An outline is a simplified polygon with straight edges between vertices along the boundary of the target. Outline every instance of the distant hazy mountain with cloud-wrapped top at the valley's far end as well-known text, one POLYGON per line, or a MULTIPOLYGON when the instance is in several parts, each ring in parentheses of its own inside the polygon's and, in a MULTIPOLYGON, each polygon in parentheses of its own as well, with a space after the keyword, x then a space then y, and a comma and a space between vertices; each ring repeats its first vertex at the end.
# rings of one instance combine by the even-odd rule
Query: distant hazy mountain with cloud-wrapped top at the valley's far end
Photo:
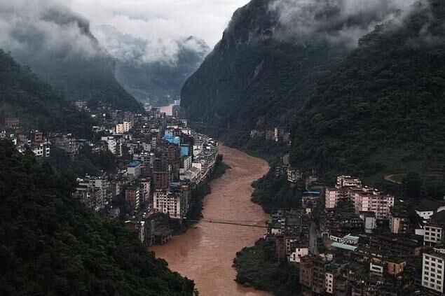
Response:
POLYGON ((156 52, 153 41, 123 34, 109 25, 99 27, 101 44, 116 58, 116 78, 139 101, 165 106, 179 97, 181 87, 210 51, 205 41, 190 36, 172 41, 156 52))

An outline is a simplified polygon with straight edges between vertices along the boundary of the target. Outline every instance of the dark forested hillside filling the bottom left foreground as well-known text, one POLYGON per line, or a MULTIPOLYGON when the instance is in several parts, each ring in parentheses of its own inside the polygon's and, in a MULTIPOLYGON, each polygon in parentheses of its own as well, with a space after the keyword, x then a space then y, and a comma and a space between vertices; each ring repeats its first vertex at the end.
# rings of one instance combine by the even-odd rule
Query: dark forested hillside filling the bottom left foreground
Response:
POLYGON ((0 141, 1 295, 193 295, 192 281, 72 199, 72 186, 0 141))

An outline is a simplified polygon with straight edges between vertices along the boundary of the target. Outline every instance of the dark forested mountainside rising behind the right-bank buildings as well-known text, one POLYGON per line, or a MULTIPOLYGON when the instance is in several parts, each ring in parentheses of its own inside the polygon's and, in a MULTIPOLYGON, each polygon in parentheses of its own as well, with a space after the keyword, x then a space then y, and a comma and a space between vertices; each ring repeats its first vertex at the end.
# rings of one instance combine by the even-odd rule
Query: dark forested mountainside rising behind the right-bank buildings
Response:
POLYGON ((296 115, 294 165, 374 182, 416 171, 430 190, 443 185, 444 21, 444 1, 423 1, 364 36, 296 115))

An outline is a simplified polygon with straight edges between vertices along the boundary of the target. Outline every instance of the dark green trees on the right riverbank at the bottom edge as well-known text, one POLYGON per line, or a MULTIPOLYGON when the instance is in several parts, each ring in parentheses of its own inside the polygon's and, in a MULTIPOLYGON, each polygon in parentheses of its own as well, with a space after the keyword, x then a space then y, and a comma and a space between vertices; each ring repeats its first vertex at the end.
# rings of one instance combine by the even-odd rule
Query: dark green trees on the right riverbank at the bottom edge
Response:
POLYGON ((275 261, 272 241, 260 239, 255 246, 243 248, 233 260, 238 272, 236 281, 245 286, 270 291, 274 295, 298 295, 299 269, 295 265, 275 261))

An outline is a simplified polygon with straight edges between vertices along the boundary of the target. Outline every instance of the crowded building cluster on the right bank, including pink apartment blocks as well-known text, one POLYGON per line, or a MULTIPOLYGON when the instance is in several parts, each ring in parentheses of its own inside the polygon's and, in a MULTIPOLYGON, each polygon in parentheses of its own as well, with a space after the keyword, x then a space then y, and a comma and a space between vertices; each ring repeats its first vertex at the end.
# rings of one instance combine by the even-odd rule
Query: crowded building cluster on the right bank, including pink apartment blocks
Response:
MULTIPOLYGON (((320 186, 287 161, 301 208, 271 215, 275 260, 299 266, 301 295, 445 295, 445 200, 403 200, 338 176, 320 186)), ((314 174, 313 174, 314 175, 314 174)))

